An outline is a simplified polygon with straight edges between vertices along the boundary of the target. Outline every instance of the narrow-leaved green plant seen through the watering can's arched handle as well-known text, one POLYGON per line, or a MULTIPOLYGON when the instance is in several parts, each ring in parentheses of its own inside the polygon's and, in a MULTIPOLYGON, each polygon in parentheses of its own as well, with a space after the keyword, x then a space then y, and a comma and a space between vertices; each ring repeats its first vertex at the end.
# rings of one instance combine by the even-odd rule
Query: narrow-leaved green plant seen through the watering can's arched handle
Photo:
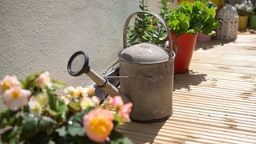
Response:
MULTIPOLYGON (((163 18, 169 18, 170 9, 168 3, 170 0, 160 1, 160 14, 163 18)), ((140 0, 139 8, 142 11, 148 11, 147 0, 140 0)), ((128 30, 128 43, 130 45, 138 44, 141 42, 150 42, 158 46, 164 45, 166 38, 166 30, 162 23, 150 14, 138 14, 135 17, 134 24, 128 30)))

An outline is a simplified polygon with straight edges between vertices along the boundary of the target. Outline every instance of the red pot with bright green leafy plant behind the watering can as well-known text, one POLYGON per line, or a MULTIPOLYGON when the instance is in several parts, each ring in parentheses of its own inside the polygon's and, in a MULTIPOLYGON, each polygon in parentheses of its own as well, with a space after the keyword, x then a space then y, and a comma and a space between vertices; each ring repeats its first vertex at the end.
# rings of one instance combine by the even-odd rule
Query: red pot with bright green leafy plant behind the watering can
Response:
POLYGON ((212 2, 182 2, 178 10, 172 10, 166 21, 178 43, 178 55, 175 61, 175 73, 189 69, 198 32, 213 34, 220 22, 215 18, 216 5, 212 2))

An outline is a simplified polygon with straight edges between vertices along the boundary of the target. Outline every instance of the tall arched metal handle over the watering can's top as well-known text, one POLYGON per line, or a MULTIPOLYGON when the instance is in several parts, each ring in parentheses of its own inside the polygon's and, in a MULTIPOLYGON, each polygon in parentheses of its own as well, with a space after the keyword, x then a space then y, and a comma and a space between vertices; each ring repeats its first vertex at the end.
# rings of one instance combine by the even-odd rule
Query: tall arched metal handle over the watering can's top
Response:
POLYGON ((149 11, 138 11, 138 12, 135 12, 133 14, 130 14, 130 16, 126 19, 125 26, 123 27, 123 48, 125 49, 127 47, 127 30, 128 30, 128 25, 129 25, 130 19, 133 18, 134 15, 137 15, 137 14, 151 14, 154 17, 158 18, 162 22, 162 25, 166 29, 166 33, 167 33, 167 37, 168 37, 168 41, 169 41, 169 48, 170 48, 170 50, 169 50, 169 59, 173 58, 173 54, 172 54, 172 50, 173 50, 172 43, 173 42, 172 42, 172 39, 171 39, 171 36, 170 36, 170 29, 167 26, 166 21, 160 15, 154 14, 154 13, 149 12, 149 11))

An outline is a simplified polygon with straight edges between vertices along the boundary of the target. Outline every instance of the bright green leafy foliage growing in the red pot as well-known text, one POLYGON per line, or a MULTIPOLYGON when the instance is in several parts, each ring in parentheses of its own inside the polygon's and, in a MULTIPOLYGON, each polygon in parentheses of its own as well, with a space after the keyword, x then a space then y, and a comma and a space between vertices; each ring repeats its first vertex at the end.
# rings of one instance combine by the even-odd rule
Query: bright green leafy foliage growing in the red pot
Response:
MULTIPOLYGON (((216 19, 216 8, 212 2, 182 2, 178 10, 170 13, 168 26, 176 37, 179 34, 214 34, 221 21, 216 19)), ((168 19, 167 19, 168 20, 168 19)))

